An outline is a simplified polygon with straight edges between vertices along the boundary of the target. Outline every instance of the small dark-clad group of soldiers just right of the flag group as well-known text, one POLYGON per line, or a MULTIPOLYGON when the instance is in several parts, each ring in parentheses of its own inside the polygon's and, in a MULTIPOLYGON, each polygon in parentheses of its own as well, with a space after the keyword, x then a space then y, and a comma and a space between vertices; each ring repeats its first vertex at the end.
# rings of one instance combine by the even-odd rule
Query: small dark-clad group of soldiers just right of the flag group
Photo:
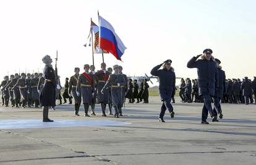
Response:
POLYGON ((135 99, 137 99, 136 103, 140 103, 143 100, 143 103, 148 103, 148 79, 142 79, 140 82, 140 89, 138 85, 138 80, 134 80, 132 82, 132 78, 128 80, 128 91, 126 98, 129 99, 129 103, 135 103, 135 99))

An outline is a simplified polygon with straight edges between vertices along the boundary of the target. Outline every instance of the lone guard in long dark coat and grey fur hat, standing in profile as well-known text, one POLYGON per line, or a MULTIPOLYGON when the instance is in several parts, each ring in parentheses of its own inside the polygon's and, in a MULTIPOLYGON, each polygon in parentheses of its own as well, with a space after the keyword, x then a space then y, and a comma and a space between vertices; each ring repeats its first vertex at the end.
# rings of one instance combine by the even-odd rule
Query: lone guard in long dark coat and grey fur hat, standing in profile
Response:
POLYGON ((53 59, 46 55, 42 59, 45 63, 45 69, 43 69, 43 77, 45 78, 45 84, 40 93, 40 104, 43 107, 43 122, 53 122, 48 118, 49 106, 56 106, 56 76, 51 63, 53 59))

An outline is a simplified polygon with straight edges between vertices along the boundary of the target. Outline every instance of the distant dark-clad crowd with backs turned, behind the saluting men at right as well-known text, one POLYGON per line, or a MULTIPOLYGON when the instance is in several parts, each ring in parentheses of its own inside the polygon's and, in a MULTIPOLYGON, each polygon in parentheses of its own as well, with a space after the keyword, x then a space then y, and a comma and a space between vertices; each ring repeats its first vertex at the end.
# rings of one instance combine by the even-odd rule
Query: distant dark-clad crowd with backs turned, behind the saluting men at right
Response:
MULTIPOLYGON (((179 96, 182 103, 203 103, 202 96, 198 96, 197 79, 191 82, 190 78, 186 78, 186 80, 181 78, 179 96)), ((256 77, 254 77, 254 80, 245 77, 242 81, 239 78, 227 79, 221 103, 256 104, 256 77)))

